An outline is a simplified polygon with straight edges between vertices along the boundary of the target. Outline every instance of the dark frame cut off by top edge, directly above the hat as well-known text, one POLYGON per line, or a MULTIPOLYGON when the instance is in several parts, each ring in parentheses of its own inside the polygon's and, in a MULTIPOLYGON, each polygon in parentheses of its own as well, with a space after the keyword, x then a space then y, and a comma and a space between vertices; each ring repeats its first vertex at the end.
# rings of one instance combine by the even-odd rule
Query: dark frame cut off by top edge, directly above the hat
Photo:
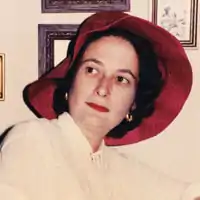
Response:
POLYGON ((42 0, 43 13, 130 11, 130 0, 42 0))

